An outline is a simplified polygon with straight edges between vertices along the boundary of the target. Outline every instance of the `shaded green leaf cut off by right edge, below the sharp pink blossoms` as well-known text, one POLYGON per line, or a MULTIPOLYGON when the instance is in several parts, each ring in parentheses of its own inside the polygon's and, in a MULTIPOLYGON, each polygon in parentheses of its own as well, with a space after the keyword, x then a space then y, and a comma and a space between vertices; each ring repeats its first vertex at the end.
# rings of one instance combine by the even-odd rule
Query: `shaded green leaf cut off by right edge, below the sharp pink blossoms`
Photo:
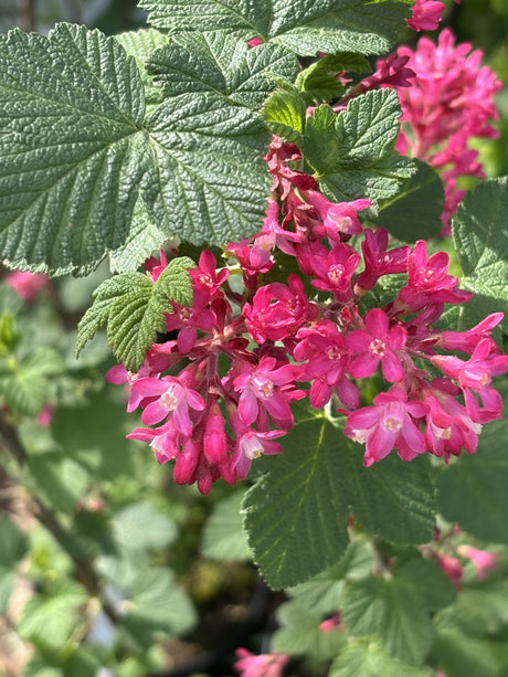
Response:
POLYGON ((507 438, 508 421, 489 423, 474 456, 463 454, 437 479, 443 517, 486 541, 508 543, 506 487, 508 458, 499 442, 507 438))

